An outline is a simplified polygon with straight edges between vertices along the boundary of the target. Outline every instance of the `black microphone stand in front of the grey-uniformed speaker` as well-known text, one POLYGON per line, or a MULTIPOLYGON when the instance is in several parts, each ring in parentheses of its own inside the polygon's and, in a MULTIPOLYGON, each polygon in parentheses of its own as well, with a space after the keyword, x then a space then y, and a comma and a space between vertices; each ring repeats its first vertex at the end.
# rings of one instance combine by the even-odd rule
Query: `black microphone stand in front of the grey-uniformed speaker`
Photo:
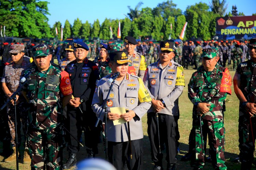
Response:
MULTIPOLYGON (((107 135, 107 101, 109 101, 108 97, 110 95, 110 92, 113 88, 113 85, 114 85, 114 82, 115 80, 111 83, 110 87, 109 87, 109 92, 108 92, 108 95, 106 96, 106 98, 104 99, 103 101, 103 104, 101 105, 101 109, 105 109, 104 113, 105 113, 105 145, 106 145, 106 152, 105 152, 105 157, 106 157, 106 161, 108 161, 108 135, 107 135)), ((99 117, 97 118, 97 121, 95 123, 95 127, 98 126, 99 124, 99 121, 100 121, 100 117, 101 117, 101 114, 102 114, 102 111, 100 112, 99 114, 99 117)))

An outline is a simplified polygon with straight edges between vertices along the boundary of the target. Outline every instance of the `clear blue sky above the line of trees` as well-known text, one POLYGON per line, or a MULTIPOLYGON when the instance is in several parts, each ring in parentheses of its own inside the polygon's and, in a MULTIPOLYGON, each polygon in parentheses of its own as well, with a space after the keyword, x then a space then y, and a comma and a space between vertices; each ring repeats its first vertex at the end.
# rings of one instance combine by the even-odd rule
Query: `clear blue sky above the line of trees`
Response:
MULTIPOLYGON (((78 17, 83 23, 88 20, 90 24, 98 18, 100 24, 105 18, 109 19, 123 19, 124 14, 129 13, 128 7, 132 9, 140 2, 140 0, 46 0, 49 2, 48 10, 51 15, 47 15, 49 21, 48 24, 52 27, 56 21, 60 21, 64 26, 66 19, 73 25, 74 20, 78 17)), ((158 3, 166 2, 167 0, 141 0, 143 2, 141 8, 151 7, 152 9, 158 5, 158 3)), ((206 0, 207 4, 211 0, 206 0)), ((182 12, 184 12, 188 5, 195 5, 200 0, 173 0, 182 12)), ((256 13, 255 6, 256 0, 227 0, 228 9, 227 13, 232 10, 232 5, 237 5, 237 11, 243 12, 245 15, 250 16, 256 13)))

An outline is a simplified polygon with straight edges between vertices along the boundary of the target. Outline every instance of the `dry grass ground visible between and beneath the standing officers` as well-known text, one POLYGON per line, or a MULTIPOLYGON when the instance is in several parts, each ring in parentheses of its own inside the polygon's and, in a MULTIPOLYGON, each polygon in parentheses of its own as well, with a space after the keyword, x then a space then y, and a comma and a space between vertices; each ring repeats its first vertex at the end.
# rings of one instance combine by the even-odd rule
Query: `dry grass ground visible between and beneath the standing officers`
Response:
MULTIPOLYGON (((229 70, 232 70, 231 67, 229 67, 229 70)), ((192 127, 192 108, 193 105, 189 101, 187 97, 187 84, 188 81, 192 75, 192 73, 195 70, 193 70, 191 67, 189 69, 185 69, 185 84, 186 87, 183 90, 183 93, 181 97, 179 98, 179 107, 180 107, 180 119, 179 119, 179 131, 180 131, 180 154, 177 155, 177 169, 192 169, 190 168, 189 162, 181 162, 180 159, 183 155, 185 155, 188 151, 188 136, 190 133, 190 129, 192 127)), ((231 76, 233 77, 234 71, 230 71, 231 76)), ((232 160, 236 158, 239 154, 239 148, 238 148, 238 109, 239 109, 239 100, 236 97, 236 94, 233 91, 232 86, 232 95, 228 95, 226 98, 226 112, 225 112, 225 128, 226 128, 226 144, 225 144, 225 157, 226 157, 226 165, 228 169, 240 169, 240 164, 233 163, 232 160)), ((143 117, 143 130, 144 130, 144 139, 143 139, 143 145, 144 145, 144 169, 145 170, 151 170, 153 168, 153 163, 151 161, 151 155, 150 155, 150 142, 148 140, 147 135, 147 117, 143 117)), ((0 147, 0 152, 2 152, 2 148, 0 147)), ((103 153, 103 143, 99 143, 99 154, 97 157, 105 158, 105 155, 103 153)), ((163 151, 165 153, 165 151, 163 151)), ((81 148, 79 154, 78 154, 78 160, 85 159, 87 157, 85 148, 81 148)), ((63 160, 66 161, 68 158, 68 153, 66 151, 66 148, 64 149, 63 153, 63 160)), ((8 169, 16 169, 16 163, 4 163, 2 160, 4 158, 0 156, 0 169, 1 170, 8 170, 8 169)), ((165 155, 163 160, 165 160, 165 155)), ((163 163, 163 167, 166 169, 166 163, 163 163)), ((205 169, 213 169, 211 163, 206 163, 205 169)), ((253 165, 253 169, 256 167, 253 165)), ((27 170, 30 169, 30 166, 28 164, 21 164, 19 163, 19 169, 27 170)), ((75 169, 75 168, 73 168, 75 169)))

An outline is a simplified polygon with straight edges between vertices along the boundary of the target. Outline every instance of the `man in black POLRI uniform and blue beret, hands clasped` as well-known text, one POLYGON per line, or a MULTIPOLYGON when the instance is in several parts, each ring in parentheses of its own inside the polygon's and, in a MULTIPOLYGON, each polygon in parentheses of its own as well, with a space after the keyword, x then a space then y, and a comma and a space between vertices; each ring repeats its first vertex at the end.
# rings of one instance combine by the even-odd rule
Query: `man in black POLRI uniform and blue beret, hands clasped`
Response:
MULTIPOLYGON (((91 110, 91 101, 96 80, 99 79, 99 69, 93 61, 87 59, 89 48, 84 42, 75 42, 73 45, 76 60, 70 62, 65 68, 70 76, 74 95, 67 105, 67 126, 76 139, 81 137, 82 129, 84 129, 88 157, 95 157, 98 154, 101 129, 94 127, 97 117, 91 110)), ((76 153, 80 150, 79 143, 71 136, 68 139, 67 150, 69 158, 63 165, 63 169, 70 169, 76 165, 76 153)))

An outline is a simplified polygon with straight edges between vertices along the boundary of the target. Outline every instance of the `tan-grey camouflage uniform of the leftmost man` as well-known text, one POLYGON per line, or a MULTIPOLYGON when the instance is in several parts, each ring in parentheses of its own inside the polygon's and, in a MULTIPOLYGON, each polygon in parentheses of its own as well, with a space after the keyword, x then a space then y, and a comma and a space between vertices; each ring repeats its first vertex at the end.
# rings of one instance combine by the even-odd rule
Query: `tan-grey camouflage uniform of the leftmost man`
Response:
MULTIPOLYGON (((24 47, 23 47, 24 48, 24 47)), ((3 70, 2 83, 7 83, 7 87, 11 93, 14 93, 20 86, 20 79, 26 69, 30 67, 30 61, 28 58, 23 57, 23 62, 21 65, 16 66, 13 62, 6 65, 3 70)), ((19 103, 16 105, 16 115, 17 115, 17 135, 18 135, 18 146, 20 146, 21 134, 20 134, 20 120, 22 121, 23 133, 27 133, 27 112, 26 112, 26 100, 20 95, 18 99, 19 103)), ((15 147, 15 112, 14 106, 11 103, 7 104, 7 114, 8 114, 8 124, 11 133, 11 145, 15 147)))

